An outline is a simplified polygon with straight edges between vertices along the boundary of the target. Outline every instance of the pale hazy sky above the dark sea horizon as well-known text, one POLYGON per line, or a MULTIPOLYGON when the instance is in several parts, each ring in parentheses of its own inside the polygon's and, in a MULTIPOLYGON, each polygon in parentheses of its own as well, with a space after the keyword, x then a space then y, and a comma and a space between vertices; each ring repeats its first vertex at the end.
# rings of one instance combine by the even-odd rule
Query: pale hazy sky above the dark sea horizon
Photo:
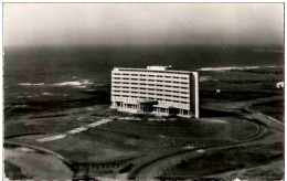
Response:
POLYGON ((283 3, 4 3, 4 46, 283 44, 283 3))

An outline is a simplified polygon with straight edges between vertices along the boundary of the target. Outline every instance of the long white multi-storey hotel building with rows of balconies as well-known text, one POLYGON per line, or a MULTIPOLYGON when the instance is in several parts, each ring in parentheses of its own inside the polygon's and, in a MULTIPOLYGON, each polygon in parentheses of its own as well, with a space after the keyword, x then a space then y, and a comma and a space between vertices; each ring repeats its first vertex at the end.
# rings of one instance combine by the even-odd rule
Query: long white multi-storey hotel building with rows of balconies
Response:
POLYGON ((199 118, 199 73, 170 66, 115 67, 111 108, 132 114, 199 118))

